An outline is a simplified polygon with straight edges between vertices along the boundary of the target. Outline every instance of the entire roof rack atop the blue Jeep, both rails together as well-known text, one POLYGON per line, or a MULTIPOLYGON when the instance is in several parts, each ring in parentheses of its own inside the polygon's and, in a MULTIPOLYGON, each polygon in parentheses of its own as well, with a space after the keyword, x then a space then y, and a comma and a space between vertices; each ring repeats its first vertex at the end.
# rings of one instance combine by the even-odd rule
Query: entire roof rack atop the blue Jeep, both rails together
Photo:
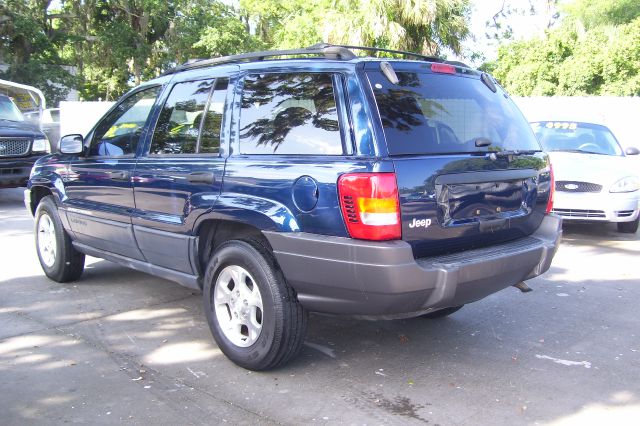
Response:
POLYGON ((190 59, 182 65, 178 65, 166 71, 162 75, 174 74, 176 72, 188 69, 208 67, 211 65, 232 64, 236 62, 252 62, 263 61, 266 58, 274 58, 278 56, 320 56, 326 59, 343 59, 351 60, 357 56, 351 50, 362 50, 375 53, 391 53, 394 55, 409 56, 423 61, 443 62, 443 59, 434 56, 421 55, 419 53, 406 52, 403 50, 381 49, 377 47, 366 46, 347 46, 339 44, 318 43, 303 49, 287 49, 287 50, 265 50, 262 52, 242 53, 240 55, 221 56, 212 59, 190 59))

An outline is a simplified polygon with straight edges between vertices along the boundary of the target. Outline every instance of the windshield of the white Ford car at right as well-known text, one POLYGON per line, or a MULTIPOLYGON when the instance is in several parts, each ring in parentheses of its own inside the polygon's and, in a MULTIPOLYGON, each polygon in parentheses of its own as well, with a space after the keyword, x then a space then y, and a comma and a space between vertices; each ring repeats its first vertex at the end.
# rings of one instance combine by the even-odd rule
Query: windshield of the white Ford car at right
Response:
POLYGON ((622 148, 605 126, 566 121, 531 123, 545 151, 622 155, 622 148))

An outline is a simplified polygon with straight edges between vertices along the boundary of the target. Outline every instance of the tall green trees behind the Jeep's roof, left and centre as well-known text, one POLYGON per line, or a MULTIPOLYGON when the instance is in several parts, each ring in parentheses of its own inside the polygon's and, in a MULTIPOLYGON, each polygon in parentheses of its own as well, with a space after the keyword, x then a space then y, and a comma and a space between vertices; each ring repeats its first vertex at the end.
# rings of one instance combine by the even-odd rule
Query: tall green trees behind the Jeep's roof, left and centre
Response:
POLYGON ((459 53, 470 0, 5 0, 0 78, 113 100, 191 58, 318 42, 459 53), (63 67, 61 67, 63 66, 63 67))

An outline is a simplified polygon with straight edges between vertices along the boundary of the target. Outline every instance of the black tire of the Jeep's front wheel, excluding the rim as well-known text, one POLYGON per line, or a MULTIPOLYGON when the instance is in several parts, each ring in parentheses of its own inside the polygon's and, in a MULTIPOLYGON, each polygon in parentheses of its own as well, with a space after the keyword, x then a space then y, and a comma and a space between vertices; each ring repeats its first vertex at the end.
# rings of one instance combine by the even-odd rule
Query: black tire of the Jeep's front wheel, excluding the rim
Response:
POLYGON ((80 278, 84 270, 84 254, 77 251, 71 244, 71 238, 62 226, 58 209, 51 195, 44 197, 38 204, 35 214, 35 234, 38 260, 47 277, 59 283, 75 281, 80 278), (41 253, 40 240, 43 237, 40 225, 45 220, 50 220, 55 234, 56 247, 53 262, 46 262, 44 253, 41 253))

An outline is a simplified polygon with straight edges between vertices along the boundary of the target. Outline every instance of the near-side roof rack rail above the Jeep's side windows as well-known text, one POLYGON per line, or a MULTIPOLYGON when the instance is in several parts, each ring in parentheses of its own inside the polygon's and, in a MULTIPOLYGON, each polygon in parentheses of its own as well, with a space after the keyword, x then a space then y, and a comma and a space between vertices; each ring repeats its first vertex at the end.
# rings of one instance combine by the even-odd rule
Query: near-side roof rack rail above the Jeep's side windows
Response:
POLYGON ((342 46, 334 46, 331 44, 314 44, 313 46, 305 47, 303 49, 287 49, 287 50, 265 50, 262 52, 242 53, 240 55, 221 56, 219 58, 190 60, 182 65, 178 65, 166 71, 162 75, 173 74, 179 71, 184 71, 194 68, 208 67, 211 65, 231 64, 234 62, 252 62, 263 61, 266 58, 273 58, 278 56, 322 56, 327 59, 344 59, 350 60, 356 58, 349 49, 345 49, 342 46))

